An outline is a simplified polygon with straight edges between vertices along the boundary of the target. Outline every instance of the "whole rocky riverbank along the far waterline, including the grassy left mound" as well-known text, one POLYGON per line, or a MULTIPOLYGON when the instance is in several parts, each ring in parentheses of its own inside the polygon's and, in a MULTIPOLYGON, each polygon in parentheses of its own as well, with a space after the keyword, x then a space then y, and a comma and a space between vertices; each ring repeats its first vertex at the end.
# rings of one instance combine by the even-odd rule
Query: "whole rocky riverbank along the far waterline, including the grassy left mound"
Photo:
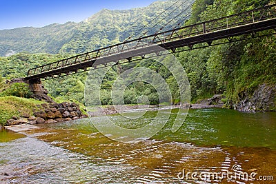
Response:
MULTIPOLYGON (((269 96, 273 96, 269 93, 269 96)), ((206 108, 224 108, 222 95, 215 95, 210 99, 204 99, 199 103, 186 105, 190 109, 206 109, 206 108)), ((84 110, 80 110, 76 103, 43 103, 34 99, 23 99, 15 96, 2 97, 0 101, 1 124, 20 125, 20 124, 40 124, 40 123, 58 123, 62 121, 71 121, 76 119, 87 118, 88 115, 83 114, 84 110), (8 107, 8 108, 7 108, 8 107), (4 117, 2 117, 5 115, 4 117), (6 122, 4 122, 6 119, 6 122)), ((126 112, 128 110, 159 110, 159 108, 181 108, 180 105, 102 105, 95 108, 88 108, 90 116, 102 116, 126 112)), ((255 108, 248 111, 248 108, 236 109, 242 112, 255 112, 255 108)))

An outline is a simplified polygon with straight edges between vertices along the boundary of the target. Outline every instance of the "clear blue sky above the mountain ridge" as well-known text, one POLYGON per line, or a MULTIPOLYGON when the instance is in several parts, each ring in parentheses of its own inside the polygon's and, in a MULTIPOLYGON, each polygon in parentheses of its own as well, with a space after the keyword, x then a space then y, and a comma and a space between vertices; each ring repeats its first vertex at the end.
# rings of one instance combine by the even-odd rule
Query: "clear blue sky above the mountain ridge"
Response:
POLYGON ((0 30, 80 22, 102 10, 127 10, 157 0, 0 0, 0 30))

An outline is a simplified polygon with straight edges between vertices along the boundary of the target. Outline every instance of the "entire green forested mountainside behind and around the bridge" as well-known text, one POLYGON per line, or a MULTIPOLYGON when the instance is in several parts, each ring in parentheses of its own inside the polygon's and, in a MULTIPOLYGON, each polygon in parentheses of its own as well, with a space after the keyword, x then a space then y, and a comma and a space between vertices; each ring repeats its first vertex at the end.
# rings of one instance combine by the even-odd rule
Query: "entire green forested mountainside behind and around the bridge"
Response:
MULTIPOLYGON (((132 10, 102 10, 81 23, 70 22, 63 25, 52 24, 44 28, 0 31, 1 53, 7 54, 10 50, 8 54, 13 54, 10 57, 0 57, 0 96, 1 89, 8 88, 5 84, 6 79, 26 76, 29 68, 70 57, 75 52, 84 52, 124 41, 129 35, 137 32, 139 34, 135 34, 135 37, 139 37, 146 30, 149 30, 148 34, 154 32, 157 27, 160 28, 165 24, 161 22, 161 19, 155 19, 155 16, 161 14, 161 17, 166 17, 166 14, 162 14, 163 10, 169 8, 174 2, 158 1, 146 8, 132 10), (150 23, 152 19, 155 21, 150 23), (153 28, 139 30, 147 23, 150 23, 147 28, 153 28), (59 52, 59 54, 30 54, 26 52, 14 54, 12 52, 23 50, 59 52)), ((186 24, 217 19, 226 14, 262 8, 269 4, 275 4, 275 0, 196 0, 193 3, 191 17, 186 24)), ((185 8, 179 8, 179 10, 185 10, 185 8)), ((170 17, 174 16, 170 14, 170 17)), ((168 17, 166 18, 168 21, 168 17)), ((183 22, 185 19, 183 17, 175 19, 177 22, 181 22, 180 20, 183 22)), ((175 25, 175 23, 170 23, 167 28, 175 25)), ((274 30, 259 32, 260 36, 262 34, 270 34, 270 36, 257 37, 256 34, 254 39, 176 53, 175 57, 183 65, 190 81, 192 102, 200 102, 201 99, 211 98, 214 94, 223 94, 222 96, 225 98, 221 101, 227 108, 245 111, 276 111, 276 37, 274 30)), ((240 38, 242 39, 242 37, 240 38)), ((224 41, 217 43, 220 42, 224 41)), ((178 51, 180 50, 181 48, 178 51)), ((112 84, 117 79, 116 75, 137 67, 149 68, 158 72, 172 87, 172 97, 175 103, 179 102, 178 85, 175 83, 175 78, 162 66, 150 60, 126 63, 111 68, 111 71, 106 74, 106 79, 101 83, 103 104, 112 103, 111 90, 112 84)), ((63 76, 43 81, 43 84, 57 102, 79 101, 84 103, 83 92, 87 75, 87 72, 83 72, 63 76)), ((139 96, 148 96, 148 99, 158 101, 159 97, 151 88, 152 86, 139 82, 128 86, 129 88, 124 92, 126 94, 124 100, 128 103, 137 103, 139 96)))

